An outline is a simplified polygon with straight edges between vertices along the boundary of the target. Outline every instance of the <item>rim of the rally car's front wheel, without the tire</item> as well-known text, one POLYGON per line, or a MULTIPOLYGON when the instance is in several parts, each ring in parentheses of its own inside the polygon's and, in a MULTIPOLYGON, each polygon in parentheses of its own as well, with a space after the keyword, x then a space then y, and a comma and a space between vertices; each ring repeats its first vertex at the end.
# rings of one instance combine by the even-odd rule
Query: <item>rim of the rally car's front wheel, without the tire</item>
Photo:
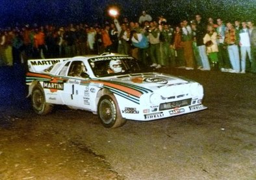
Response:
POLYGON ((114 106, 109 100, 102 100, 99 110, 99 116, 104 124, 110 124, 114 120, 114 106))

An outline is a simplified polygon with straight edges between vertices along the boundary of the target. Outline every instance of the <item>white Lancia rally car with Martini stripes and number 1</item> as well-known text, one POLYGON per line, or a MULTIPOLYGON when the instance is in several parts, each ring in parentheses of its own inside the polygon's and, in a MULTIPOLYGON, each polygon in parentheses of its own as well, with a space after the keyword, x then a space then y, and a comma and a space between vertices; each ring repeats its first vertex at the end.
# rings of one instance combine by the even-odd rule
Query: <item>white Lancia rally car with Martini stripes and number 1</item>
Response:
POLYGON ((115 128, 126 119, 155 120, 207 108, 198 82, 146 73, 130 56, 29 60, 28 65, 29 96, 39 115, 62 104, 92 111, 105 127, 115 128))

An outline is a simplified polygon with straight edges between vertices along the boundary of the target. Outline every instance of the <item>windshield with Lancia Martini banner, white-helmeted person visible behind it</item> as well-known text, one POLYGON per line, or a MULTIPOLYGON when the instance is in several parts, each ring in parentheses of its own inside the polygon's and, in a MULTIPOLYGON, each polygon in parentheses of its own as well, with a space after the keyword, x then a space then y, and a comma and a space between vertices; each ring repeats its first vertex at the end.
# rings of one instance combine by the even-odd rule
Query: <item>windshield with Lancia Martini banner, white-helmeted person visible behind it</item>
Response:
POLYGON ((92 58, 89 63, 96 77, 142 72, 140 65, 138 65, 138 60, 130 56, 92 58))

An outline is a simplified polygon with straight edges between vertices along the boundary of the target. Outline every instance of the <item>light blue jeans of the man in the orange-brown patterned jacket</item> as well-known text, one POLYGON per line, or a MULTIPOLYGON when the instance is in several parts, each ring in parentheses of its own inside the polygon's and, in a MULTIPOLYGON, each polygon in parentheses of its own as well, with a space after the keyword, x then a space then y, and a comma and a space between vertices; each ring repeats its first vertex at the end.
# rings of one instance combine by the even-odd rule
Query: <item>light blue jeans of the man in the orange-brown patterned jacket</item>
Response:
POLYGON ((240 72, 240 58, 237 45, 229 45, 227 51, 229 52, 229 60, 233 70, 240 72))

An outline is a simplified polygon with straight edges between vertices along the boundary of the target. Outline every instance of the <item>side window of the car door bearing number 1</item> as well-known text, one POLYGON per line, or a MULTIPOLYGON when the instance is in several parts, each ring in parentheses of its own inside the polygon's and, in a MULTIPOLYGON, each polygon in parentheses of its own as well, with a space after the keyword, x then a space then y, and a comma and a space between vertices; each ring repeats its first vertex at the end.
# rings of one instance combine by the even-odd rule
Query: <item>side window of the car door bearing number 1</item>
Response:
POLYGON ((82 78, 81 73, 86 73, 87 69, 83 62, 75 61, 71 62, 70 69, 68 71, 68 76, 82 78))

